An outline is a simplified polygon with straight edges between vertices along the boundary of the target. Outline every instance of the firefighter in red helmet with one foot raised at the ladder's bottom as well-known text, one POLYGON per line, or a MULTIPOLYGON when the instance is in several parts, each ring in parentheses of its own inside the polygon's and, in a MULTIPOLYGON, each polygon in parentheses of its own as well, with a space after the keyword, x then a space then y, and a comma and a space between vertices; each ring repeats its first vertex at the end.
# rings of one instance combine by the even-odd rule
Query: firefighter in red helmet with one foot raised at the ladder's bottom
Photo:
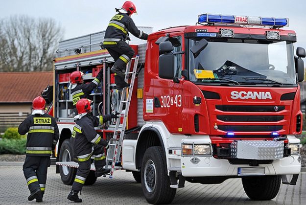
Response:
POLYGON ((78 159, 79 167, 67 198, 73 202, 82 202, 78 193, 82 190, 90 172, 91 157, 94 157, 94 174, 96 177, 110 172, 109 169, 103 168, 106 165, 104 146, 107 146, 108 143, 96 133, 94 127, 112 118, 118 118, 119 113, 94 116, 91 114, 91 101, 86 98, 80 99, 76 103, 76 109, 78 115, 74 116, 76 122, 71 136, 71 145, 74 155, 78 159))

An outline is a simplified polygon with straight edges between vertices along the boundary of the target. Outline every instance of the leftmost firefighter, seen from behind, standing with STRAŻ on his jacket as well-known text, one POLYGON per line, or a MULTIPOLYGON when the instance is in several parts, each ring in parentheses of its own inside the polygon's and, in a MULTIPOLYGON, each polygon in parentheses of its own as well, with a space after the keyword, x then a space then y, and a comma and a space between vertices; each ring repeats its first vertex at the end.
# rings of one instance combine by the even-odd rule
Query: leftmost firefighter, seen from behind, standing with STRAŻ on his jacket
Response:
POLYGON ((50 155, 55 149, 59 131, 55 119, 45 113, 46 101, 39 96, 33 100, 33 112, 18 127, 20 135, 27 134, 24 177, 30 190, 29 201, 42 202, 46 188, 50 155))

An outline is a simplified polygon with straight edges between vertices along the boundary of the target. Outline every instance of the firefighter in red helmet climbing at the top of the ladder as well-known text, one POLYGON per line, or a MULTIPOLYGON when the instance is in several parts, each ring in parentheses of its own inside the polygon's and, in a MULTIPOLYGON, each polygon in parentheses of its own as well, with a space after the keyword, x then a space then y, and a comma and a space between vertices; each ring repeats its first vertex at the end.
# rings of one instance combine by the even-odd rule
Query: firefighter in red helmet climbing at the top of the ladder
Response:
POLYGON ((140 31, 133 22, 131 15, 136 12, 136 6, 131 1, 125 1, 121 8, 116 8, 116 14, 108 24, 102 46, 108 50, 115 60, 111 72, 115 73, 115 83, 118 90, 128 87, 124 81, 126 64, 134 56, 134 50, 125 42, 130 40, 129 33, 147 40, 148 34, 140 31))

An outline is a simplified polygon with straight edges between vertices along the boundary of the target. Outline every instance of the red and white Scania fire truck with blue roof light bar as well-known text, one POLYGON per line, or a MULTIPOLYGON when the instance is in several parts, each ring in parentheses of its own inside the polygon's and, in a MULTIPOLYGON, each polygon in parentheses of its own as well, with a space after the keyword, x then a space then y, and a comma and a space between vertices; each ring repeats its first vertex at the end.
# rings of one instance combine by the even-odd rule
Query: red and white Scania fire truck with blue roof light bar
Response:
MULTIPOLYGON (((171 203, 186 181, 241 178, 253 200, 273 199, 281 182, 296 184, 301 157, 295 135, 302 131, 297 83, 304 80, 306 54, 301 47, 295 54, 296 33, 282 29, 287 25, 285 18, 203 14, 196 25, 151 33, 147 42, 132 39, 138 77, 117 167, 133 172, 149 203, 171 203)), ((99 46, 103 34, 60 42, 54 60, 57 171, 65 184, 73 182, 77 167, 70 73, 81 70, 86 82, 103 69, 91 94, 93 112, 118 110, 114 60, 99 46)), ((109 140, 114 124, 96 131, 109 140)), ((87 184, 96 180, 92 170, 87 184)))

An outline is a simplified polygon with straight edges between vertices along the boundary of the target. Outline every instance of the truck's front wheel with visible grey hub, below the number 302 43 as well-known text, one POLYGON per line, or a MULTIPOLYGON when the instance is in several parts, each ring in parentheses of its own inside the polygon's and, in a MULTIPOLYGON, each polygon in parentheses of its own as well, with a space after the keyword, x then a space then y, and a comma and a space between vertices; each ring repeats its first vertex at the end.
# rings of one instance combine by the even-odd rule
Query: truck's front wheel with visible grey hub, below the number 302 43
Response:
POLYGON ((148 203, 170 204, 176 189, 170 188, 165 154, 162 147, 149 147, 141 164, 141 187, 148 203))

